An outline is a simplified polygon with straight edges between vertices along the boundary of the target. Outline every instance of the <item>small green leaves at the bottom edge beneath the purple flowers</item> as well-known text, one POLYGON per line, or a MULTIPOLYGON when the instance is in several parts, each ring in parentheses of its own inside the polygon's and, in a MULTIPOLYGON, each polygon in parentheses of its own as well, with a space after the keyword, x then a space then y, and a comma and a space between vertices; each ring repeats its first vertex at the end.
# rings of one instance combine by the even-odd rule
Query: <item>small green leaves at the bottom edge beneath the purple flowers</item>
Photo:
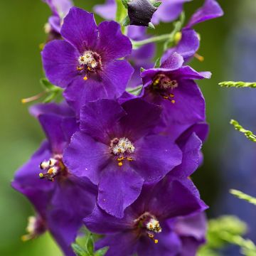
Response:
POLYGON ((80 243, 75 242, 72 244, 73 251, 77 256, 103 256, 106 254, 108 247, 104 247, 95 252, 94 238, 91 233, 86 232, 85 243, 80 245, 80 243))

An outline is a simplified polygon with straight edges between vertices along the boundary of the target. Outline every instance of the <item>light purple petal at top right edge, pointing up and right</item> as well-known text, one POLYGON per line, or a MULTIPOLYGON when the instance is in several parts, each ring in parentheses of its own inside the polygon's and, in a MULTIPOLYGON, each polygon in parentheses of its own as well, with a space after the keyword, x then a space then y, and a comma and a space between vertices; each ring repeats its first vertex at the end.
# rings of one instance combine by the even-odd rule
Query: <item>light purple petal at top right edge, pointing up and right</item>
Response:
POLYGON ((191 28, 197 23, 208 21, 212 18, 218 18, 220 16, 223 16, 223 10, 218 2, 215 0, 206 0, 203 6, 193 14, 186 27, 191 28))

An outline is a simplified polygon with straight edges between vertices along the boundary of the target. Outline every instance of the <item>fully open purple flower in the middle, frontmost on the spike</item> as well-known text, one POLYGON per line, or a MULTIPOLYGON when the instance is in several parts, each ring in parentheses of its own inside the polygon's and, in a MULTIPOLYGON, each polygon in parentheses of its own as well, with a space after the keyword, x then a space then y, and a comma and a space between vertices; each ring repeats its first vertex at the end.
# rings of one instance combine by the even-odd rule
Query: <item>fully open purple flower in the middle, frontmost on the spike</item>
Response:
POLYGON ((98 185, 97 202, 122 218, 143 184, 156 183, 181 164, 181 150, 169 137, 153 134, 160 107, 140 99, 119 105, 114 100, 88 102, 81 110, 80 130, 65 150, 73 174, 98 185))

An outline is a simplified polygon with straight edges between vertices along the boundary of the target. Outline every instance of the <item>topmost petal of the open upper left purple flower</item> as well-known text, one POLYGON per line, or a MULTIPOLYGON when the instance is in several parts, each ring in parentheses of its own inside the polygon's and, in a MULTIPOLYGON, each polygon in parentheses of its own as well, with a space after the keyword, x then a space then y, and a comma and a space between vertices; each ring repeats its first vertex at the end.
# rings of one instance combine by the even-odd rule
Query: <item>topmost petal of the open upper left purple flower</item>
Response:
POLYGON ((80 54, 93 49, 97 42, 97 24, 93 14, 78 7, 70 9, 64 18, 61 36, 77 48, 80 54))

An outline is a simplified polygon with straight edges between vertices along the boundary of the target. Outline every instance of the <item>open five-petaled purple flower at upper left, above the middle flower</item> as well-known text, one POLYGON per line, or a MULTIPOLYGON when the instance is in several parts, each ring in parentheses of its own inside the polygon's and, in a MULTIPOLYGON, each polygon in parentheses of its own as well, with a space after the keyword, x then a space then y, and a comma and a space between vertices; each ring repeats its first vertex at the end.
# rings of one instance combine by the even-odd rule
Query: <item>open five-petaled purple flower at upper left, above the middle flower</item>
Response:
POLYGON ((65 41, 51 41, 42 52, 46 76, 66 88, 64 96, 80 112, 85 102, 122 95, 133 69, 123 58, 132 43, 114 21, 96 25, 93 14, 73 7, 61 28, 65 41))

